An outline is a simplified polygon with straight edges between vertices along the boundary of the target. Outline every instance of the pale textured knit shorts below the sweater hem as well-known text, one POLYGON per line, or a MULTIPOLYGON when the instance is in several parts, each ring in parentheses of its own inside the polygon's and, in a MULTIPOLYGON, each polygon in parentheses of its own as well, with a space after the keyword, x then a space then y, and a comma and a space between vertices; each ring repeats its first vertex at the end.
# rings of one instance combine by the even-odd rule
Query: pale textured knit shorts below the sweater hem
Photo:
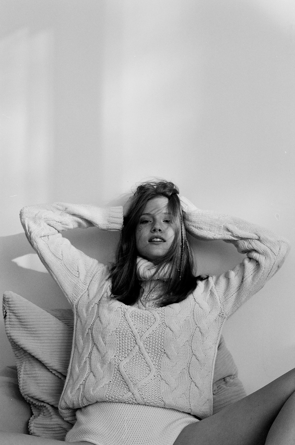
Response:
POLYGON ((173 445, 182 429, 198 422, 175 409, 117 402, 85 406, 76 417, 65 441, 95 445, 173 445))

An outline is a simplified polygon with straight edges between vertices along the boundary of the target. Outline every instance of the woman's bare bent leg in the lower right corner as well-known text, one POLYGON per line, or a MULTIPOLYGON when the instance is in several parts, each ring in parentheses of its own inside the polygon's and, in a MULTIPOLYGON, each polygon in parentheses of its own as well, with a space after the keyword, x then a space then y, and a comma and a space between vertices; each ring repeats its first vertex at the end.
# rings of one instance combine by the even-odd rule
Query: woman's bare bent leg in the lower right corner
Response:
POLYGON ((186 426, 174 445, 293 445, 286 437, 276 437, 282 429, 291 437, 294 392, 295 369, 219 413, 186 426))

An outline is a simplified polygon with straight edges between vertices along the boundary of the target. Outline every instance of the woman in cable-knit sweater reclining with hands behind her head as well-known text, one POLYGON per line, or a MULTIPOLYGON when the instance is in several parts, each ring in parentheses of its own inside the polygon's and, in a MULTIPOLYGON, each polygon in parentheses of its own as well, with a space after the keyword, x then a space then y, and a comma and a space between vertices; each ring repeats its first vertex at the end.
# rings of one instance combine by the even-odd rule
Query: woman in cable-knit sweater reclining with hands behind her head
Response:
MULTIPOLYGON (((222 325, 282 265, 285 239, 241 219, 199 210, 165 181, 137 187, 124 214, 121 207, 55 204, 24 208, 21 221, 75 314, 59 404, 74 424, 66 441, 293 443, 294 370, 212 416, 222 325), (110 270, 60 234, 74 227, 120 230, 123 216, 110 270), (247 258, 219 277, 196 278, 187 232, 233 243, 247 258)), ((18 439, 13 443, 59 443, 18 439)), ((9 440, 6 435, 2 443, 9 440)))

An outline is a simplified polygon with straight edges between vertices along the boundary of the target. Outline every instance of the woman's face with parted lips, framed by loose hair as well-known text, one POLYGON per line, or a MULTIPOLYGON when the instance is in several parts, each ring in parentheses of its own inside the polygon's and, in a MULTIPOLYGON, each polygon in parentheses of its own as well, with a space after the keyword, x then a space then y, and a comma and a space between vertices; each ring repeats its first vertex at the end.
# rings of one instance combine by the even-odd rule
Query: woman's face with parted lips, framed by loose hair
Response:
POLYGON ((138 254, 157 263, 169 251, 175 237, 168 198, 159 196, 148 201, 136 227, 138 254))

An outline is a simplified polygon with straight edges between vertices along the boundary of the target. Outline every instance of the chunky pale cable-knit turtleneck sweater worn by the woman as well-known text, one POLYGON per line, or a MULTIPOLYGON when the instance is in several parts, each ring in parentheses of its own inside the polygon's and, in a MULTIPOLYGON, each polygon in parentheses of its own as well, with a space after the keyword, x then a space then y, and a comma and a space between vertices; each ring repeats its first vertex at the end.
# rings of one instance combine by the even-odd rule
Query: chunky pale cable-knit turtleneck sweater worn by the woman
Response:
MULTIPOLYGON (((29 242, 75 314, 72 356, 59 404, 65 420, 74 423, 77 409, 96 402, 116 402, 108 406, 120 405, 126 412, 127 404, 137 404, 201 419, 212 414, 214 361, 222 325, 275 274, 288 243, 239 218, 199 210, 186 198, 181 203, 191 235, 234 243, 247 258, 231 271, 198 282, 185 300, 165 307, 126 306, 110 298, 108 268, 60 233, 90 226, 120 230, 122 207, 57 203, 21 210, 29 242)), ((142 301, 151 288, 150 298, 157 295, 155 280, 166 279, 167 267, 156 276, 153 273, 154 265, 138 258, 142 301)))

